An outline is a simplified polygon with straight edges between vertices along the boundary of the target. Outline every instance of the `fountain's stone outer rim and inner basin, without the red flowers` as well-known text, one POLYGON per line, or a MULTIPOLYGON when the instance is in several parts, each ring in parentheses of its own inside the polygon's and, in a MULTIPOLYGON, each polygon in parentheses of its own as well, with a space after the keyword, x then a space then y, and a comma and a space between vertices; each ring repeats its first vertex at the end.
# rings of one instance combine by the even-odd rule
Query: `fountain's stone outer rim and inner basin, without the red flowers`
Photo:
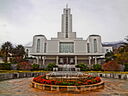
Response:
MULTIPOLYGON (((86 80, 89 75, 82 73, 82 72, 76 72, 76 71, 57 71, 57 72, 50 72, 45 75, 46 80, 55 80, 55 81, 62 81, 67 82, 71 80, 75 81, 81 81, 86 80)), ((42 77, 41 77, 42 78, 42 77)), ((91 80, 91 79, 90 79, 91 80)), ((55 84, 46 84, 46 83, 38 83, 35 81, 32 81, 32 87, 38 88, 42 90, 47 91, 90 91, 95 90, 99 88, 104 87, 104 82, 99 81, 95 84, 82 84, 82 85, 55 85, 55 84)))

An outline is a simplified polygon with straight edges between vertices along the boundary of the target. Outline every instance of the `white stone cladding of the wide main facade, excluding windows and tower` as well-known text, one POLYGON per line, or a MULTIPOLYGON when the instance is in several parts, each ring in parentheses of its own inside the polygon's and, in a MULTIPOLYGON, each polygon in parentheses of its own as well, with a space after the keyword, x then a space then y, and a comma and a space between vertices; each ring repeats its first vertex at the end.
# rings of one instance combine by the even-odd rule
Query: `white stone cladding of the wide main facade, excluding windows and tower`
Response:
MULTIPOLYGON (((33 45, 32 47, 26 47, 30 54, 37 53, 37 40, 40 39, 40 54, 50 55, 51 53, 54 55, 62 54, 59 53, 59 43, 60 42, 73 42, 74 43, 74 55, 95 55, 95 54, 105 54, 106 49, 108 47, 103 47, 101 43, 101 36, 99 35, 90 35, 87 40, 82 40, 82 38, 78 39, 64 39, 64 38, 54 38, 52 40, 47 40, 44 36, 34 36, 33 37, 33 45), (97 40, 97 52, 94 52, 94 39, 97 40), (89 43, 90 52, 88 52, 87 43, 89 43), (46 45, 45 45, 46 44, 46 45), (44 49, 46 48, 46 52, 44 49)), ((108 50, 112 50, 112 47, 109 47, 108 50)), ((66 54, 66 53, 65 53, 66 54)))

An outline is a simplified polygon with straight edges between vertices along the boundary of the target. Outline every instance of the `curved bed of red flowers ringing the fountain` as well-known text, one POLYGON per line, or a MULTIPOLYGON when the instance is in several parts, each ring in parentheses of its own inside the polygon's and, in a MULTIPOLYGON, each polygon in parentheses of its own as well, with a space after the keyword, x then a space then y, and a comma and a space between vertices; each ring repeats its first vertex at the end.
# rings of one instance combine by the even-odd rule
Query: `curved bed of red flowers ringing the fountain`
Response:
POLYGON ((33 78, 34 82, 40 84, 49 84, 49 85, 65 85, 65 86, 80 86, 80 85, 91 85, 101 82, 100 77, 94 77, 88 75, 86 78, 79 80, 67 80, 67 81, 57 81, 57 80, 48 80, 46 75, 41 75, 33 78))

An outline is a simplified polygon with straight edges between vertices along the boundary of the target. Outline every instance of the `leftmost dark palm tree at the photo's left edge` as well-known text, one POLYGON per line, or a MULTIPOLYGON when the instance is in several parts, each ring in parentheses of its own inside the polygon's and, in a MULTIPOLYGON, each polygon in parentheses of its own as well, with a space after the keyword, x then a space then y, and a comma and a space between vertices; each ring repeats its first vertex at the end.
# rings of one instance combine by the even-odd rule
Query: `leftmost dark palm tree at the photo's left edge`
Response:
POLYGON ((8 62, 8 57, 10 56, 10 54, 12 53, 12 43, 11 42, 5 42, 2 46, 1 46, 1 52, 3 54, 3 57, 5 59, 5 63, 8 62))

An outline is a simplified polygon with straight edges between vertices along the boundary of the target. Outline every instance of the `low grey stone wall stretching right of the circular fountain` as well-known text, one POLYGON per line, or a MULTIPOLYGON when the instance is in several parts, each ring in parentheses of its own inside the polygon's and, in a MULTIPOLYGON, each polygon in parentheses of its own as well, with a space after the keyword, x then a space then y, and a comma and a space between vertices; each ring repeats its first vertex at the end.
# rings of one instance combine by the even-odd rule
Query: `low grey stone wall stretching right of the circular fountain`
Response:
POLYGON ((88 73, 88 74, 93 76, 104 77, 104 78, 128 80, 128 74, 121 74, 121 73, 88 73))

